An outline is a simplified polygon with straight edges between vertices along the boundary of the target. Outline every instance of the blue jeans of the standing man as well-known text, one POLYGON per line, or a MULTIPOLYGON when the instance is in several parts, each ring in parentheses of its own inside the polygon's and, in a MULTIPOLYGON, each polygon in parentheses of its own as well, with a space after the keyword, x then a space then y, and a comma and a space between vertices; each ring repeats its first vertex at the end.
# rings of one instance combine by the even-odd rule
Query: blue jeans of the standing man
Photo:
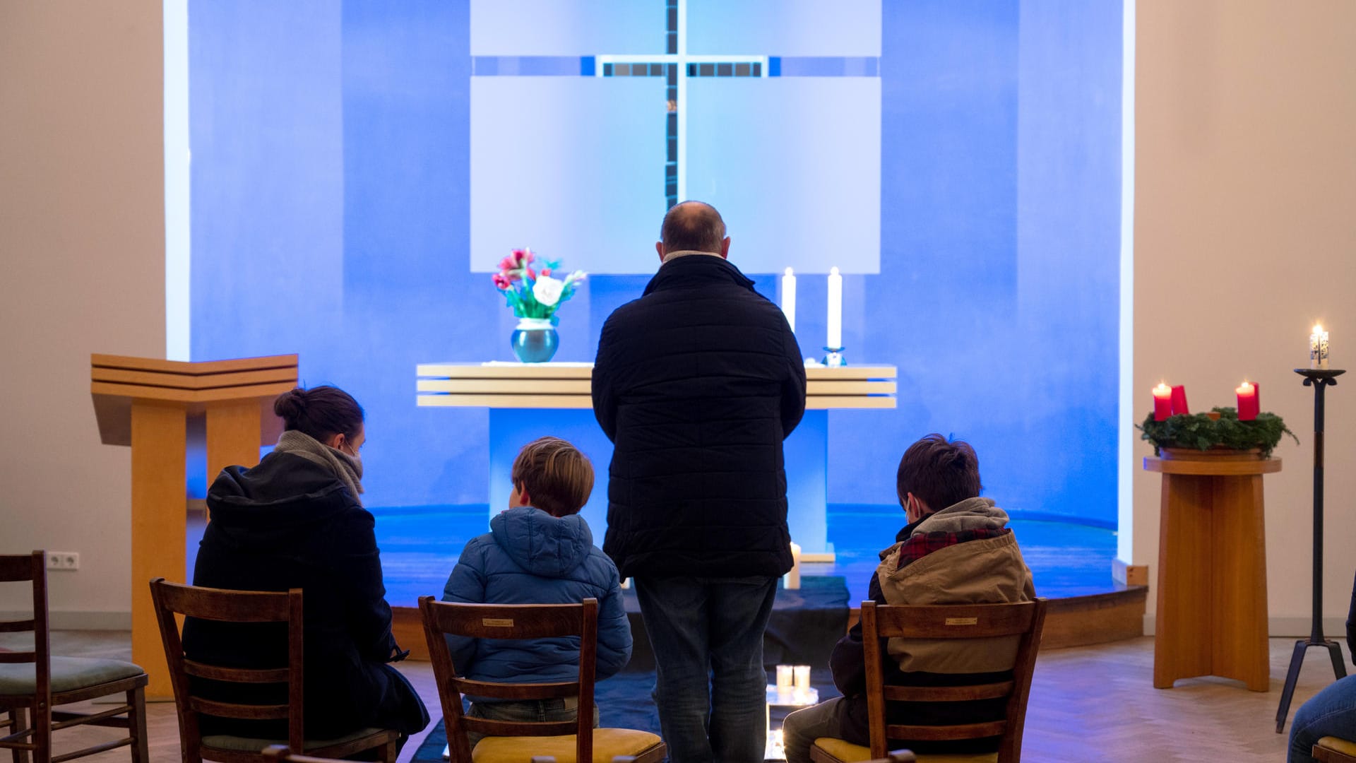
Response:
POLYGON ((670 763, 761 763, 774 577, 636 578, 670 763))

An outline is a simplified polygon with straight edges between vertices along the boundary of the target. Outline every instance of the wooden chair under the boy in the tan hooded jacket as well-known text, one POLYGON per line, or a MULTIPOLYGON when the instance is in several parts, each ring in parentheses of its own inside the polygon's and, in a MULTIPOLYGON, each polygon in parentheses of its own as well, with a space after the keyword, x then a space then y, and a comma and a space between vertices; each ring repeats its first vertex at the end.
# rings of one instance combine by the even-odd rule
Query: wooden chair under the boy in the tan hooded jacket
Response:
MULTIPOLYGON (((918 763, 970 763, 1021 760, 1021 734, 1026 722, 1026 698, 1031 676, 1040 649, 1040 630, 1045 622, 1045 600, 1017 604, 961 606, 885 606, 861 603, 862 642, 866 663, 866 711, 871 747, 839 739, 818 739, 810 749, 816 763, 854 763, 885 758, 890 739, 964 740, 1001 736, 998 752, 989 755, 917 755, 918 763), (1020 637, 1013 677, 1008 682, 976 686, 884 686, 880 649, 881 638, 968 639, 1002 635, 1020 637), (899 725, 885 722, 890 702, 961 702, 971 699, 1008 699, 1001 721, 949 726, 899 725)), ((957 645, 960 646, 960 645, 957 645)))

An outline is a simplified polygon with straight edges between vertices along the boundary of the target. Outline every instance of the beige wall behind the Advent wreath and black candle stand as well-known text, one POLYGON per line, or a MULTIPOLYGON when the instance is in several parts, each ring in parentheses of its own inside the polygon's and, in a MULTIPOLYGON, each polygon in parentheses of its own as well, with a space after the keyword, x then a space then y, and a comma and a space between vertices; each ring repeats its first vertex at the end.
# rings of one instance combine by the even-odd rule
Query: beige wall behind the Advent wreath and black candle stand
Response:
MULTIPOLYGON (((1307 634, 1317 319, 1356 369, 1356 3, 1139 0, 1135 410, 1185 384, 1234 405, 1246 376, 1303 444, 1267 477, 1273 634, 1307 634)), ((1356 372, 1328 390, 1323 610, 1344 619, 1356 554, 1356 372)), ((1138 468, 1134 562, 1157 576, 1159 478, 1138 468)), ((1153 614, 1153 603, 1150 603, 1153 614)), ((1329 630, 1329 637, 1337 635, 1329 630)))

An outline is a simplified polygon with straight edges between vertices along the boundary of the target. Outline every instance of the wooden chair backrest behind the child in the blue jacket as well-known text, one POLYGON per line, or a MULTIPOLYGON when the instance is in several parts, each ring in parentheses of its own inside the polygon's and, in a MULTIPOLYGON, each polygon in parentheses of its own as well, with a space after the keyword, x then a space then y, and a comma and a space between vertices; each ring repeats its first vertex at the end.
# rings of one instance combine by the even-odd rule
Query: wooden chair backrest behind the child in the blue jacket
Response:
POLYGON ((433 675, 442 699, 452 763, 471 763, 466 732, 490 736, 575 734, 576 760, 593 760, 594 671, 598 661, 598 600, 579 604, 460 604, 419 597, 433 675), (461 677, 445 635, 529 639, 579 637, 579 677, 555 683, 496 683, 461 677), (517 722, 472 718, 461 713, 461 695, 495 699, 579 698, 576 721, 517 722))

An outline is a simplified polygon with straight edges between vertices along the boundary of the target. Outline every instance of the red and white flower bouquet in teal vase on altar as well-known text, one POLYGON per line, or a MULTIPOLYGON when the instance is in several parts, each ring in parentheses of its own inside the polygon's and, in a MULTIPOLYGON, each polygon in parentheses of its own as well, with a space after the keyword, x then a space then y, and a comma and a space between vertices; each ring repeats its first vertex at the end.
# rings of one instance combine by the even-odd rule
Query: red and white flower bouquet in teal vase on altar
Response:
POLYGON ((510 345, 522 362, 545 362, 556 354, 560 343, 556 310, 575 295, 575 288, 586 276, 583 270, 575 270, 557 278, 553 273, 559 267, 559 262, 538 262, 530 248, 515 248, 499 261, 499 273, 491 277, 518 316, 510 345))

